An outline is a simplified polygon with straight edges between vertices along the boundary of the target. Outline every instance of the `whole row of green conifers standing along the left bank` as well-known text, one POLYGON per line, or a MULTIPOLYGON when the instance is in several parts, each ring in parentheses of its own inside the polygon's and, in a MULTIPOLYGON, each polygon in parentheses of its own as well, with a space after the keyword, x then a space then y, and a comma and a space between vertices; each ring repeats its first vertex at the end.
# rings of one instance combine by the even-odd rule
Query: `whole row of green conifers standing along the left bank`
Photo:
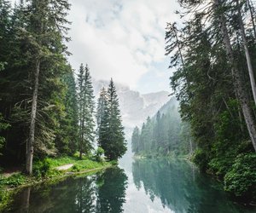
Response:
MULTIPOLYGON (((90 69, 81 65, 76 83, 67 61, 69 8, 67 0, 20 1, 14 9, 0 0, 1 166, 26 165, 32 174, 33 158, 78 151, 81 158, 95 147, 90 69)), ((110 87, 106 131, 111 134, 99 146, 106 153, 108 147, 122 147, 121 153, 107 156, 117 159, 125 153, 125 137, 120 115, 114 114, 119 104, 112 80, 110 87)))

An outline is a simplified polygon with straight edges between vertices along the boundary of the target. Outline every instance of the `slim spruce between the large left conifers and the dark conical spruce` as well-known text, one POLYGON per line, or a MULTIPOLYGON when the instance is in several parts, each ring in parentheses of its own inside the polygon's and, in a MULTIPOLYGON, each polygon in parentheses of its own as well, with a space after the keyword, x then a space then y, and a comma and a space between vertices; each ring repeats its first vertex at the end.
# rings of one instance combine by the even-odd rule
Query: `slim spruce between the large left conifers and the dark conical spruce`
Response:
POLYGON ((89 67, 81 64, 79 69, 79 153, 89 153, 94 141, 94 95, 89 67))

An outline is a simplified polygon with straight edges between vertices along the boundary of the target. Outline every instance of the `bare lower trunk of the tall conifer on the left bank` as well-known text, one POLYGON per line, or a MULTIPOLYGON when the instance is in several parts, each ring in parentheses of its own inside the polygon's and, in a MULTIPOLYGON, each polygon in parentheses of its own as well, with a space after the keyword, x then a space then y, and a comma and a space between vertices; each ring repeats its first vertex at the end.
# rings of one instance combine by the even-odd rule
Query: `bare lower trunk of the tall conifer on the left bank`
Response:
POLYGON ((32 112, 30 120, 29 137, 26 144, 26 173, 32 175, 32 161, 34 153, 34 141, 35 141, 35 126, 37 118, 37 108, 38 108, 38 84, 39 84, 39 72, 40 72, 40 60, 36 61, 35 66, 35 81, 34 81, 34 91, 32 94, 32 112))

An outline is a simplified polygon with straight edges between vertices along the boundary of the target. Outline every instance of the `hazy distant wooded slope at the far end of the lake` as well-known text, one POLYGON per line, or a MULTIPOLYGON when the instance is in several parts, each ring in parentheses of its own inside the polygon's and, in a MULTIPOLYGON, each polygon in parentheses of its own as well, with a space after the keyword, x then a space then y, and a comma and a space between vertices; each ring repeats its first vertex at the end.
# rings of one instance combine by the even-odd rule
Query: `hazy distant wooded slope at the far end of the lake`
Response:
POLYGON ((172 98, 153 118, 147 118, 141 130, 131 137, 132 152, 137 155, 163 156, 192 153, 189 125, 181 121, 177 101, 172 98))

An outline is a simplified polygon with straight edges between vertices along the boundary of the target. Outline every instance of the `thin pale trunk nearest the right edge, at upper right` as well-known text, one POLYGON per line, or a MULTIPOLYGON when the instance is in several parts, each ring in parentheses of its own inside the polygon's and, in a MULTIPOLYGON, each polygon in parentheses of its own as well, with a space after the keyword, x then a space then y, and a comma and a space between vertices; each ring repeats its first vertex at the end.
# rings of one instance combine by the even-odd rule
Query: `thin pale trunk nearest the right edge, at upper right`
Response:
POLYGON ((245 32, 245 28, 244 28, 242 17, 241 17, 241 7, 239 4, 239 0, 236 0, 236 6, 237 6, 237 11, 238 11, 239 27, 241 30, 241 38, 242 38, 243 48, 244 48, 246 58, 247 58, 247 67, 248 67, 251 87, 253 90, 253 99, 254 99, 254 103, 256 104, 256 83, 255 83, 255 78, 254 78, 254 74, 253 74, 252 60, 251 60, 251 56, 249 54, 249 49, 247 47, 247 37, 246 37, 246 32, 245 32))

